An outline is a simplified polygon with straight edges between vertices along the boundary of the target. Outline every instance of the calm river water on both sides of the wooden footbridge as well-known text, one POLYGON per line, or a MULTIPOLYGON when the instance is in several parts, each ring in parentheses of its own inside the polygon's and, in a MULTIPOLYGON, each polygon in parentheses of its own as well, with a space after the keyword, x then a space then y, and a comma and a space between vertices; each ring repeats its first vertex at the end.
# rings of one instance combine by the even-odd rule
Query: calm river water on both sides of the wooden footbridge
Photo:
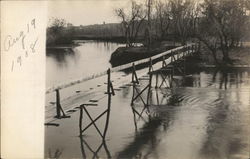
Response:
MULTIPOLYGON (((93 42, 84 44, 88 47, 97 47, 93 42)), ((76 53, 80 54, 77 57, 65 55, 66 60, 61 62, 60 60, 53 62, 54 57, 47 57, 47 61, 50 60, 47 66, 51 68, 50 72, 47 72, 47 76, 51 75, 47 77, 48 83, 53 84, 62 80, 58 77, 70 79, 71 75, 73 77, 75 74, 70 72, 70 69, 74 70, 74 66, 88 67, 80 64, 81 61, 86 60, 84 57, 90 57, 90 55, 85 56, 86 52, 83 52, 87 50, 84 44, 80 46, 82 50, 76 53)), ((99 49, 102 48, 101 50, 106 48, 104 43, 98 45, 101 45, 99 47, 99 49)), ((111 45, 110 50, 118 46, 111 45)), ((98 47, 95 49, 98 50, 98 47)), ((91 66, 96 66, 98 70, 102 67, 97 66, 97 63, 102 63, 103 68, 110 66, 108 61, 105 61, 109 59, 106 56, 111 54, 108 49, 103 51, 103 59, 101 59, 101 53, 99 56, 97 54, 93 53, 93 59, 99 57, 99 60, 91 66)), ((95 61, 88 64, 93 63, 95 61)), ((47 68, 47 71, 50 68, 47 68)), ((76 70, 81 69, 76 68, 76 70)), ((110 120, 105 142, 94 126, 79 137, 79 109, 74 109, 76 111, 70 114, 71 118, 53 121, 60 126, 45 128, 45 157, 249 158, 250 71, 201 69, 188 72, 185 77, 175 75, 171 89, 165 85, 162 88, 153 87, 149 98, 149 109, 144 109, 140 99, 135 101, 132 109, 131 85, 124 83, 123 87, 116 88, 116 94, 111 98, 110 120), (139 112, 141 116, 135 112, 139 112)), ((125 75, 130 78, 130 74, 124 73, 125 75)), ((47 85, 50 85, 48 83, 47 85)), ((141 80, 138 89, 142 90, 147 84, 147 80, 141 80)), ((154 85, 155 80, 152 82, 152 86, 154 85)), ((143 99, 146 99, 146 96, 147 92, 144 92, 143 99)), ((98 106, 87 108, 93 118, 107 108, 107 100, 104 97, 98 100, 98 106)), ((83 114, 83 127, 88 122, 90 122, 89 118, 83 114)), ((96 122, 101 132, 105 122, 105 116, 96 122)))

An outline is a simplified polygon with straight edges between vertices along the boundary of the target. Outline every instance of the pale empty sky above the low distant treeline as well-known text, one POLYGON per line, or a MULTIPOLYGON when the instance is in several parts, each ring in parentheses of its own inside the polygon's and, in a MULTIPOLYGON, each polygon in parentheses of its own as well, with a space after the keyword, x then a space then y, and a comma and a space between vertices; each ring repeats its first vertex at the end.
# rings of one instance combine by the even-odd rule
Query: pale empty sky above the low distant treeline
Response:
POLYGON ((129 4, 129 0, 49 1, 48 16, 64 18, 73 25, 119 22, 114 9, 129 4))

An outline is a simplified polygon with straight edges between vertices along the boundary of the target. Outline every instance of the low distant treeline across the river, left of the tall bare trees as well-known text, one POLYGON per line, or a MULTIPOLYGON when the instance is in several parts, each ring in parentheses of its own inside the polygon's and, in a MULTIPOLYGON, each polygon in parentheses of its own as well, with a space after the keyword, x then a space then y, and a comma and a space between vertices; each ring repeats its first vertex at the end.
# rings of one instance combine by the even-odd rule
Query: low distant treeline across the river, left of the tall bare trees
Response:
POLYGON ((71 45, 74 39, 120 40, 124 37, 121 24, 74 26, 65 19, 51 18, 47 27, 47 46, 71 45))

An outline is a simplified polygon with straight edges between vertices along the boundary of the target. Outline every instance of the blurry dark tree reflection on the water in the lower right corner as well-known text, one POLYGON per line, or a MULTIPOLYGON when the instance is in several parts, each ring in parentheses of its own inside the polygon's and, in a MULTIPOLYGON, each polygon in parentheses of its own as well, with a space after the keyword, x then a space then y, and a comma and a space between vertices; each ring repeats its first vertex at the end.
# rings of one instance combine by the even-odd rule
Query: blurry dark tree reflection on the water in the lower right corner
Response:
MULTIPOLYGON (((227 99, 225 94, 220 94, 220 102, 209 110, 207 137, 201 148, 204 158, 230 158, 248 146, 244 136, 241 136, 244 132, 239 124, 242 121, 238 105, 227 104, 228 101, 223 99, 227 99)), ((234 100, 239 101, 238 98, 234 100)))

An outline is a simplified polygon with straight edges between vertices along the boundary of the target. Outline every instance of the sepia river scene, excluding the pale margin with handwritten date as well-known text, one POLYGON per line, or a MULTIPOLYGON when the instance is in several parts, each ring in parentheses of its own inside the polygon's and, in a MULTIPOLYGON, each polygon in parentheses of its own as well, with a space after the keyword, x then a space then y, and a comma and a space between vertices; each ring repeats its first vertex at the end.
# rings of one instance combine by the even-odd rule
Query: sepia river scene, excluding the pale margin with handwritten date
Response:
POLYGON ((44 158, 250 158, 250 0, 48 1, 45 61, 44 158))

